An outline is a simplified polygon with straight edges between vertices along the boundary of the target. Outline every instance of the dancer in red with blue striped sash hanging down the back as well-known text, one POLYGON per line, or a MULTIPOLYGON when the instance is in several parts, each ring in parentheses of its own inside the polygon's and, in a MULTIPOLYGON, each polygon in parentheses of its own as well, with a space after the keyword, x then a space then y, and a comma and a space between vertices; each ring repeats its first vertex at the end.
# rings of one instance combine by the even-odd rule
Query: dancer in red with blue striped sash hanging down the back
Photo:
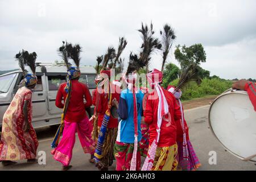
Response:
POLYGON ((98 139, 97 147, 94 152, 94 160, 96 167, 101 171, 107 171, 109 166, 112 166, 114 160, 114 142, 117 138, 117 118, 110 114, 112 101, 117 102, 120 97, 120 88, 110 82, 110 69, 104 68, 100 75, 102 81, 98 84, 98 106, 96 112, 98 113, 98 139))

